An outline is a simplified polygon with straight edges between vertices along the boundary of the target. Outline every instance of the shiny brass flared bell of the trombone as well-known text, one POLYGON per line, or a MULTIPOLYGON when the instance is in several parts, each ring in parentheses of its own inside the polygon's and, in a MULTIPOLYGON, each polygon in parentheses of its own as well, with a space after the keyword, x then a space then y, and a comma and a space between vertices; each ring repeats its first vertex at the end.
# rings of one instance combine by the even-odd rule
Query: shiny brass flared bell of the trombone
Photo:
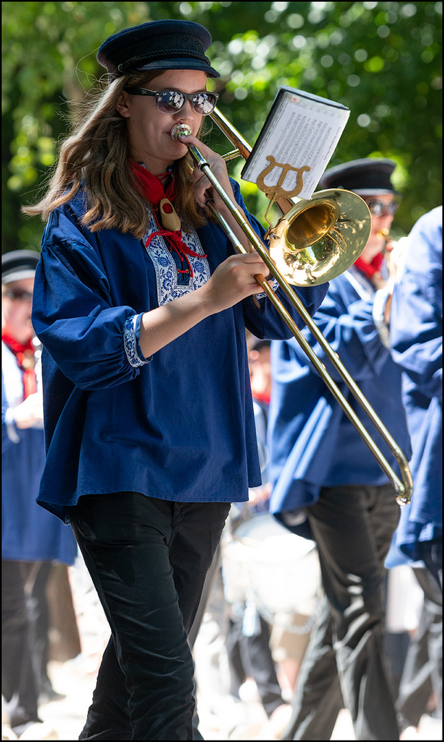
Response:
POLYGON ((293 286, 317 286, 345 272, 371 231, 368 206, 335 188, 301 200, 268 232, 270 255, 293 286))

